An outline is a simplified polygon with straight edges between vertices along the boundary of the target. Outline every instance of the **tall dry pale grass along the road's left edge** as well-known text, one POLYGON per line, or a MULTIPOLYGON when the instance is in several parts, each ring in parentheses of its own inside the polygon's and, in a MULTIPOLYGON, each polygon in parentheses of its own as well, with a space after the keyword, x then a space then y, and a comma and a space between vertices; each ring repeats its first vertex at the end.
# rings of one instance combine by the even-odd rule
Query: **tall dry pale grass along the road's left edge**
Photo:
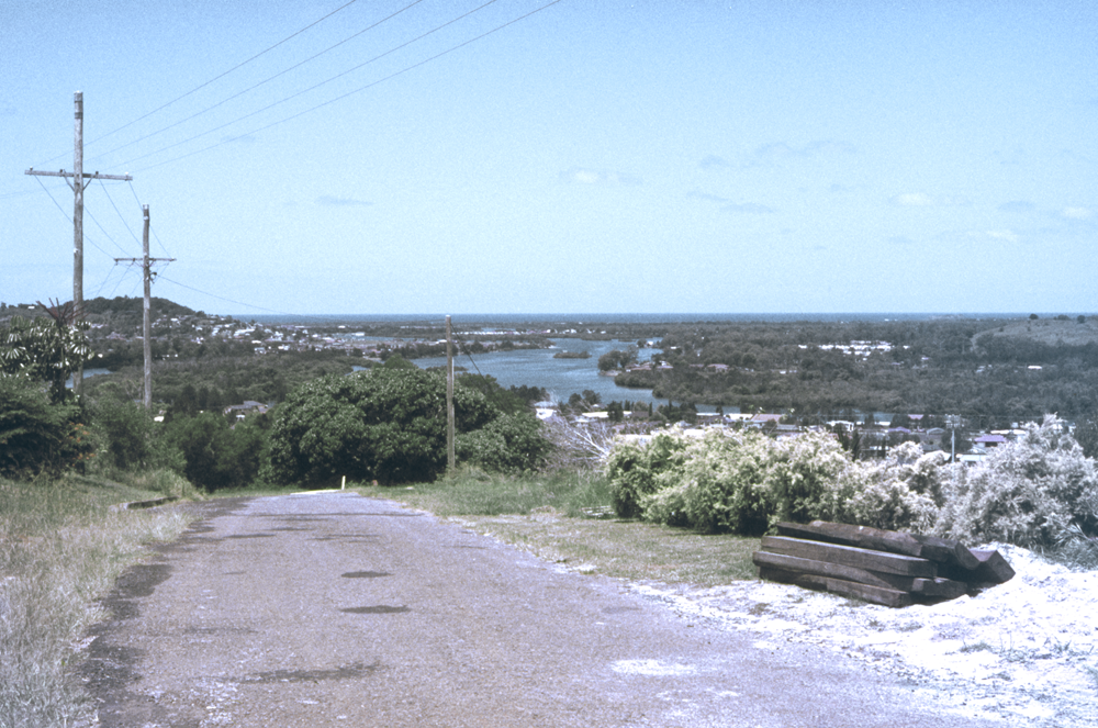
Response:
POLYGON ((94 600, 139 560, 144 544, 172 539, 187 525, 173 511, 110 508, 189 489, 170 475, 145 479, 130 486, 0 479, 0 728, 88 719, 70 669, 87 628, 103 617, 94 600))

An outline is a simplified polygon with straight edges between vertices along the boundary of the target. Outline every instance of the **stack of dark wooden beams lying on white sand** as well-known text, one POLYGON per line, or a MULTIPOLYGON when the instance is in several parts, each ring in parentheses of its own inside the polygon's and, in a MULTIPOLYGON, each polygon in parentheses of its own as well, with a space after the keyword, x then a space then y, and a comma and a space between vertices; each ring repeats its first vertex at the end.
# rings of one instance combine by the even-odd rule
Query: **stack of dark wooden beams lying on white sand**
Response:
POLYGON ((965 594, 1015 575, 998 551, 895 530, 814 520, 777 524, 752 560, 759 576, 903 607, 965 594))

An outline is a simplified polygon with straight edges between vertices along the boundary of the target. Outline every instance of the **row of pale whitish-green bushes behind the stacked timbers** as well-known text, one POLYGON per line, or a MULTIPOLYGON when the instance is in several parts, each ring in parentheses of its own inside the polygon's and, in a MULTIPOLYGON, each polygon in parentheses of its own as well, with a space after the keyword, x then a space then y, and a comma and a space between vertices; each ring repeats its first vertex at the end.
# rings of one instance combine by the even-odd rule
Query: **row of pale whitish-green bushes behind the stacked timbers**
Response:
POLYGON ((826 433, 681 433, 618 444, 607 461, 618 515, 704 531, 760 534, 817 518, 1027 548, 1098 549, 1095 462, 1054 416, 972 468, 918 445, 853 461, 826 433))

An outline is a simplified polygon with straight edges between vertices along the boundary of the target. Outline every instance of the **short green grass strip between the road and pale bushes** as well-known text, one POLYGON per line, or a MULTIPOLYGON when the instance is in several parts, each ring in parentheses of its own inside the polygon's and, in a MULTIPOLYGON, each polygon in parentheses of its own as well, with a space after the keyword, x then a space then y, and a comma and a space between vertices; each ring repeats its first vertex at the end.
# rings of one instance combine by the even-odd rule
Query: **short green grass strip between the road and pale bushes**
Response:
POLYGON ((583 573, 699 586, 755 579, 758 573, 751 563, 758 538, 589 517, 609 509, 609 484, 597 473, 466 473, 413 486, 355 490, 458 520, 583 573))

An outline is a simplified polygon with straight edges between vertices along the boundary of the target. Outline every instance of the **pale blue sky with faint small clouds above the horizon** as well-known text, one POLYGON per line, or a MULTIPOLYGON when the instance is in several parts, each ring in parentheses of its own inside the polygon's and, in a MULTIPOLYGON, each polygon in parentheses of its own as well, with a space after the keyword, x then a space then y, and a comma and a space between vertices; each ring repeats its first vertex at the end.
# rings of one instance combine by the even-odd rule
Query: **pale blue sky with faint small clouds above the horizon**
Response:
POLYGON ((0 3, 0 301, 82 91, 86 298, 144 203, 208 312, 1098 311, 1098 5, 484 2, 0 3))

